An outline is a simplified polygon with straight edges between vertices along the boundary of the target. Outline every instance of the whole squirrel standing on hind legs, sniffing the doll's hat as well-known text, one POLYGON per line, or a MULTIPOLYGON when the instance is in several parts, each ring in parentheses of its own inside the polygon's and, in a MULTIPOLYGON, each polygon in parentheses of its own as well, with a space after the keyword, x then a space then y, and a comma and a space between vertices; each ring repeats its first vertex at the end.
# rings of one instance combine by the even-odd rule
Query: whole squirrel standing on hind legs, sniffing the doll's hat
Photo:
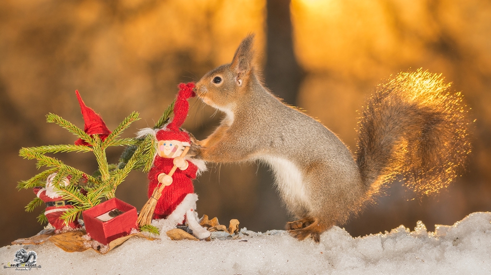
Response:
MULTIPOLYGON (((188 153, 212 162, 262 161, 274 174, 299 240, 342 224, 402 175, 430 194, 446 187, 470 152, 467 108, 440 75, 403 72, 377 86, 362 109, 355 156, 330 130, 265 88, 247 36, 230 64, 196 83, 204 103, 225 113, 188 153)), ((285 76, 288 77, 288 76, 285 76)))

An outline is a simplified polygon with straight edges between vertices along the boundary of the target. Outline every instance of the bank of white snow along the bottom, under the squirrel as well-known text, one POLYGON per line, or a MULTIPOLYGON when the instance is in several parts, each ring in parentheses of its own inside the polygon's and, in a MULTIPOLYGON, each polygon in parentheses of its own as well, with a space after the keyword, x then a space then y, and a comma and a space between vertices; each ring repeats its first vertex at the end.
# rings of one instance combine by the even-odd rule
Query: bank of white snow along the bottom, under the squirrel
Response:
POLYGON ((413 231, 400 226, 358 238, 334 227, 320 244, 299 242, 283 230, 216 232, 210 242, 171 241, 164 234, 157 241, 132 237, 105 255, 68 253, 48 241, 1 248, 0 274, 21 272, 3 266, 23 247, 35 251, 41 265, 24 274, 490 274, 490 221, 490 212, 473 213, 435 232, 419 222, 413 231))

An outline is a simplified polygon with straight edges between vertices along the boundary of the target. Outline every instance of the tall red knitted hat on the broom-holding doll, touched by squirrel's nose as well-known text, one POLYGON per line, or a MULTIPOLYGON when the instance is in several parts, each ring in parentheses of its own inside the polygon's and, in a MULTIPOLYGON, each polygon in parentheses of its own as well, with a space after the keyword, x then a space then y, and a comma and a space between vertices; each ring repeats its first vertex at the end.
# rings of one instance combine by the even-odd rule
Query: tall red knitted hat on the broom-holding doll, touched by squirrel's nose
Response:
POLYGON ((164 129, 157 132, 155 135, 157 140, 178 140, 183 143, 188 143, 184 144, 185 146, 190 145, 191 138, 189 137, 189 134, 180 130, 179 127, 183 125, 186 116, 188 116, 188 98, 196 95, 192 90, 193 88, 194 83, 192 82, 179 84, 179 93, 177 94, 176 103, 174 104, 174 118, 164 129))

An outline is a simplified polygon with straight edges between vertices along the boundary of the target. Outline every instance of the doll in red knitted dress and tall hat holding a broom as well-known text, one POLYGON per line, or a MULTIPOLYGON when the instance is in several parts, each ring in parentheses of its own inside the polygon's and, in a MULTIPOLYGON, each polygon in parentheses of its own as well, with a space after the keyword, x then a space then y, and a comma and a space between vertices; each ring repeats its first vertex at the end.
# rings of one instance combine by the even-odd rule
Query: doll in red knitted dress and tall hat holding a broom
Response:
POLYGON ((193 88, 193 83, 181 83, 172 121, 162 129, 143 129, 138 136, 152 134, 158 141, 153 167, 148 173, 148 197, 152 196, 156 187, 166 185, 155 207, 153 219, 165 218, 178 225, 186 223, 194 236, 205 239, 210 236, 210 232, 199 225, 196 213, 198 195, 194 193, 192 180, 197 173, 206 170, 206 165, 202 160, 180 157, 184 148, 191 145, 190 135, 179 127, 188 115, 188 98, 195 96, 193 88), (174 165, 177 169, 169 176, 174 165))

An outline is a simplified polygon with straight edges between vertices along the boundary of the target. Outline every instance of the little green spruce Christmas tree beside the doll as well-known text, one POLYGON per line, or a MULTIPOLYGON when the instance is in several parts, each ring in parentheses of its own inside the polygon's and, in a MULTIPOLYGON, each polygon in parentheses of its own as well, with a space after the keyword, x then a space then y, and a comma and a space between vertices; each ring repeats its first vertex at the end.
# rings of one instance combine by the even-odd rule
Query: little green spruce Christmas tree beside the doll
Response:
MULTIPOLYGON (((80 96, 79 101, 81 102, 82 107, 83 101, 80 96)), ((173 103, 165 110, 164 114, 158 120, 154 126, 155 129, 161 128, 164 123, 168 121, 172 109, 173 103)), ((90 111, 92 110, 90 109, 90 111)), ((82 108, 82 114, 85 118, 83 112, 82 108)), ((56 176, 53 179, 55 188, 63 197, 63 200, 74 204, 74 207, 63 213, 60 218, 66 223, 78 219, 83 210, 100 204, 104 199, 114 198, 117 186, 125 180, 131 170, 139 169, 144 172, 150 170, 155 154, 154 138, 150 136, 143 138, 120 138, 123 131, 138 119, 138 113, 133 112, 126 117, 112 133, 107 130, 103 134, 104 131, 93 131, 92 133, 90 129, 87 130, 87 124, 85 125, 85 129, 82 130, 58 115, 48 114, 47 122, 56 123, 67 129, 70 133, 77 136, 79 140, 77 140, 76 144, 22 148, 19 152, 21 157, 29 160, 35 159, 37 160, 36 166, 38 169, 43 166, 46 166, 47 169, 27 181, 20 182, 17 185, 17 188, 20 190, 33 188, 35 186, 44 187, 48 176, 56 173, 56 176), (106 149, 110 146, 126 146, 118 164, 108 163, 106 149), (99 168, 93 174, 87 174, 75 167, 63 163, 61 160, 46 155, 48 153, 55 154, 61 152, 92 152, 99 168), (63 184, 65 179, 69 180, 68 185, 63 184)), ((43 201, 40 198, 35 198, 26 206, 26 211, 33 211, 34 208, 41 206, 42 204, 43 201)), ((38 221, 41 224, 47 222, 44 212, 38 216, 38 221)))

